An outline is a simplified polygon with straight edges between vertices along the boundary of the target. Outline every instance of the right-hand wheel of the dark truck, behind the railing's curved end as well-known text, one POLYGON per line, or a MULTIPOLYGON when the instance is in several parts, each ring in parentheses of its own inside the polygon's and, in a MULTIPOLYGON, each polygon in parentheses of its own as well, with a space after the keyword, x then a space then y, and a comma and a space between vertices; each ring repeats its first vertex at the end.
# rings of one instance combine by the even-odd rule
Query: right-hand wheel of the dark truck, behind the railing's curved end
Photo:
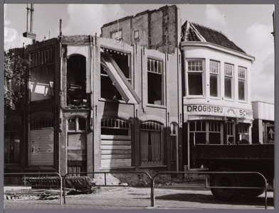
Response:
MULTIPOLYGON (((265 187, 265 181, 260 175, 243 175, 243 182, 246 187, 265 187)), ((243 196, 258 197, 265 189, 243 189, 243 196)))

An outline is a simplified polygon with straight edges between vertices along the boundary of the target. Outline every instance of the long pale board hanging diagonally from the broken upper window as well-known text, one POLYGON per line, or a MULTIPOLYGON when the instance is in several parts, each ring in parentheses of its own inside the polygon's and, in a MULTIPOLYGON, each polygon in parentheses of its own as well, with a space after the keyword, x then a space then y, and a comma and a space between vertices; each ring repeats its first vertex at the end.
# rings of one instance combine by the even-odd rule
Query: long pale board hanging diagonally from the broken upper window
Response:
POLYGON ((141 102, 110 53, 101 53, 101 65, 126 103, 139 104, 141 102))

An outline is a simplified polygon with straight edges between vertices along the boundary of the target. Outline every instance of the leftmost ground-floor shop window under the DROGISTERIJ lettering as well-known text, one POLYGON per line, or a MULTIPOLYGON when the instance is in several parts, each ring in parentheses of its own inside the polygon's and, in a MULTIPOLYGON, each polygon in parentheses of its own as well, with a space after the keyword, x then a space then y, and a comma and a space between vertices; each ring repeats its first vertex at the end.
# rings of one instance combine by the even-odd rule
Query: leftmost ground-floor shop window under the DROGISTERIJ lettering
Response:
POLYGON ((190 144, 206 144, 206 121, 191 121, 189 123, 190 144))

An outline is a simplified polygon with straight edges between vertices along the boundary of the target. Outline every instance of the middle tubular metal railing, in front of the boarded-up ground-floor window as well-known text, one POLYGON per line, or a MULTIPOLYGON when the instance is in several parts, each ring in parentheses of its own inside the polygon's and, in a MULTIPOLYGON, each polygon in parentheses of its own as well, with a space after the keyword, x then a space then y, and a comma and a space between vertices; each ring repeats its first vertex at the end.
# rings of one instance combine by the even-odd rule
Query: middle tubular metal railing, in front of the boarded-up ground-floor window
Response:
MULTIPOLYGON (((149 178, 150 182, 152 182, 152 177, 146 173, 146 172, 96 172, 96 173, 88 173, 88 172, 82 172, 82 173, 67 173, 65 174, 65 176, 63 177, 63 195, 64 195, 64 204, 66 203, 65 201, 65 178, 68 177, 68 175, 76 175, 76 174, 85 174, 85 175, 88 175, 88 174, 104 174, 105 175, 105 178, 104 178, 104 182, 105 182, 105 185, 96 185, 96 186, 99 186, 99 187, 127 187, 127 185, 107 185, 107 174, 144 174, 144 175, 147 175, 147 177, 149 178)), ((143 185, 143 186, 140 186, 140 187, 150 187, 151 185, 143 185)), ((131 186, 130 186, 131 187, 131 186)))

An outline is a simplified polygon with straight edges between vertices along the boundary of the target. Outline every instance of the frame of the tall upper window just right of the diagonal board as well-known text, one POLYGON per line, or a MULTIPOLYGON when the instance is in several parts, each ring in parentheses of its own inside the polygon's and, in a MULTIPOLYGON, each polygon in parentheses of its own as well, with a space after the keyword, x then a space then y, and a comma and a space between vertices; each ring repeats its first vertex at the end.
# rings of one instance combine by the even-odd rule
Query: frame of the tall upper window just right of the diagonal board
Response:
MULTIPOLYGON (((156 101, 156 100, 154 100, 156 101)), ((147 57, 147 104, 157 105, 157 106, 164 106, 164 60, 161 58, 153 58, 148 56, 147 57), (153 66, 152 66, 153 62, 153 66), (155 62, 159 62, 159 65, 157 65, 157 68, 155 67, 155 62), (158 67, 159 66, 159 67, 158 67), (159 70, 160 68, 160 70, 159 70), (155 71, 157 70, 157 72, 155 71), (152 73, 154 75, 161 75, 161 104, 157 103, 149 103, 149 73, 152 73)))

